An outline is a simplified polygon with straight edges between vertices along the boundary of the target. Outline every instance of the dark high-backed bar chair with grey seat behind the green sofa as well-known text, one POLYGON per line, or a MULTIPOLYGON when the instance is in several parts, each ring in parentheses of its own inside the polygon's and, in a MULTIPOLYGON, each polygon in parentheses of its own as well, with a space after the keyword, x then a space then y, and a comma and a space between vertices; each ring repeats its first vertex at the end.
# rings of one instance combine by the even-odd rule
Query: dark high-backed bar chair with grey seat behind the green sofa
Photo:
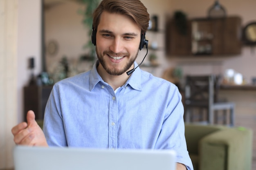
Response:
POLYGON ((186 122, 198 120, 201 123, 217 124, 222 120, 223 124, 234 126, 235 104, 219 101, 219 79, 220 77, 215 75, 186 76, 184 99, 186 122), (227 111, 229 111, 229 121, 227 111))

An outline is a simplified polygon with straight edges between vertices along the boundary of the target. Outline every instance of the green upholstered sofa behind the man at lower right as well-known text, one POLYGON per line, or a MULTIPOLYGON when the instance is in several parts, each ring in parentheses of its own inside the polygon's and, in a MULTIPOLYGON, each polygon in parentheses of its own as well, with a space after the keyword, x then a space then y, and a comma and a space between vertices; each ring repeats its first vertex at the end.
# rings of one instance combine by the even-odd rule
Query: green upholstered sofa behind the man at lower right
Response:
POLYGON ((251 170, 251 129, 185 124, 185 137, 195 170, 251 170))

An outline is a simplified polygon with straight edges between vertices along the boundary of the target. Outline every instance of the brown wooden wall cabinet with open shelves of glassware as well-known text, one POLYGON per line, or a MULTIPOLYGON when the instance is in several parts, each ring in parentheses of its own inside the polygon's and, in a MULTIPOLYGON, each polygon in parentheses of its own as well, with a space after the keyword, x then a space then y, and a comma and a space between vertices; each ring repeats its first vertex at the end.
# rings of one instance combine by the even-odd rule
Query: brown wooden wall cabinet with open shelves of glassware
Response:
POLYGON ((200 18, 188 21, 182 35, 175 22, 168 25, 168 55, 236 55, 241 53, 240 17, 200 18))

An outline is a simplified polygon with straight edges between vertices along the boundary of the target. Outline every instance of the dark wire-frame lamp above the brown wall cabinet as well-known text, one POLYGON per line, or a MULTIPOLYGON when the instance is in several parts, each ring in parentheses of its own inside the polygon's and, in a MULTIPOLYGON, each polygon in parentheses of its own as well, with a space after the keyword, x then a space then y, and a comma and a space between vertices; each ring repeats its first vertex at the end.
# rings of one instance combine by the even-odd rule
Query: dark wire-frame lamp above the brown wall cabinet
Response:
POLYGON ((219 3, 218 0, 214 2, 214 4, 208 10, 208 17, 209 18, 224 18, 226 17, 226 10, 222 5, 219 3))

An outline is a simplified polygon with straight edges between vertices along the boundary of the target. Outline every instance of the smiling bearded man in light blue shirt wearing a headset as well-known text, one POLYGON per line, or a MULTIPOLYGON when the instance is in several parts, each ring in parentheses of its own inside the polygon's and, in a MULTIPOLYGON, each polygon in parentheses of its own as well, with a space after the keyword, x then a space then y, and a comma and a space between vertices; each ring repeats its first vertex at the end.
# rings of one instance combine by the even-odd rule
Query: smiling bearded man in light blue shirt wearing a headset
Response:
POLYGON ((16 144, 85 148, 173 149, 177 170, 192 170, 177 87, 136 68, 149 14, 139 0, 103 0, 93 13, 92 43, 98 61, 91 71, 54 85, 43 131, 13 127, 16 144), (132 70, 136 68, 135 70, 132 70), (127 71, 133 73, 127 75, 127 71))

